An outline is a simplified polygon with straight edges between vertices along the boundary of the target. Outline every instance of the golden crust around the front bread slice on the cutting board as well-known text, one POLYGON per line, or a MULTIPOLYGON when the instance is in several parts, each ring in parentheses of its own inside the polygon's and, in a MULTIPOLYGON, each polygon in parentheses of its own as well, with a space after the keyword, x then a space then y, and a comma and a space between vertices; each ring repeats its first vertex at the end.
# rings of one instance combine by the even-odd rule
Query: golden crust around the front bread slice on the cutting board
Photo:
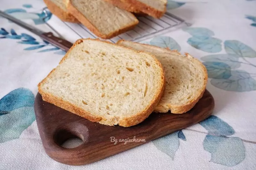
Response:
MULTIPOLYGON (((100 41, 100 42, 104 42, 104 43, 108 43, 108 44, 112 44, 114 46, 118 46, 117 44, 113 44, 111 42, 108 41, 102 41, 99 39, 90 39, 89 40, 94 40, 94 41, 100 41)), ((68 50, 68 52, 66 53, 66 55, 60 60, 61 64, 64 60, 67 59, 68 54, 73 50, 73 48, 82 43, 84 40, 88 40, 88 39, 78 39, 73 46, 68 50)), ((126 48, 126 47, 124 47, 126 48)), ((135 50, 133 50, 135 51, 135 50)), ((145 53, 145 52, 138 52, 135 51, 137 53, 145 53)), ((136 115, 132 115, 131 117, 113 117, 112 119, 107 119, 105 117, 101 117, 101 116, 95 116, 92 115, 90 112, 87 112, 86 110, 83 110, 79 107, 77 107, 76 105, 69 103, 67 101, 64 101, 63 99, 61 99, 60 97, 56 97, 53 96, 50 93, 45 93, 44 90, 41 88, 41 85, 45 83, 46 79, 48 77, 51 76, 51 74, 56 70, 56 68, 54 68, 39 84, 38 84, 38 92, 42 95, 43 100, 49 103, 52 103, 62 109, 68 110, 74 114, 77 114, 81 117, 84 117, 92 122, 99 122, 101 124, 106 124, 106 125, 116 125, 119 124, 120 126, 124 126, 124 127, 129 127, 129 126, 133 126, 136 124, 139 124, 140 122, 142 122, 143 120, 145 120, 154 110, 154 108, 157 106, 157 104, 159 103, 159 101, 161 100, 161 97, 164 94, 164 89, 165 89, 165 77, 164 77, 164 69, 162 67, 162 64, 156 59, 156 57, 152 54, 150 54, 152 56, 152 58, 154 58, 154 60, 156 61, 157 65, 161 68, 161 82, 160 82, 160 87, 156 93, 156 95, 154 96, 153 100, 148 104, 148 106, 142 110, 141 112, 137 113, 136 115)))

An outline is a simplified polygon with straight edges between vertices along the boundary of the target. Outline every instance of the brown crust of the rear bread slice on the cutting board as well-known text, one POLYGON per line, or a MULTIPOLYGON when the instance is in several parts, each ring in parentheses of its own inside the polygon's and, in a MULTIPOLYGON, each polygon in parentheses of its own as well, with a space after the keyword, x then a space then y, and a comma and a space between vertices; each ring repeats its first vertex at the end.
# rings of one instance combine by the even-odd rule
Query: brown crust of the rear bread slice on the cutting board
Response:
MULTIPOLYGON (((121 45, 121 43, 123 41, 125 41, 125 40, 118 40, 116 42, 116 44, 121 45)), ((136 42, 132 42, 132 43, 136 43, 136 42)), ((137 44, 140 44, 140 43, 137 43, 137 44)), ((148 45, 148 44, 143 44, 143 45, 148 46, 148 48, 152 48, 152 45, 148 45)), ((153 46, 153 47, 162 49, 161 47, 158 47, 158 46, 153 46)), ((187 103, 185 105, 174 105, 174 104, 157 105, 156 108, 154 109, 155 112, 159 112, 159 113, 166 113, 170 110, 174 114, 182 114, 182 113, 185 113, 185 112, 189 111, 190 109, 192 109, 196 105, 198 100, 203 97, 204 91, 206 89, 207 80, 208 80, 207 69, 201 61, 192 57, 188 53, 185 53, 185 56, 183 56, 177 50, 170 50, 169 48, 165 48, 165 50, 166 50, 165 52, 167 52, 167 53, 169 52, 171 54, 175 54, 175 55, 180 56, 180 57, 187 57, 190 60, 193 60, 193 62, 198 63, 204 70, 204 85, 203 85, 203 88, 197 91, 196 97, 191 99, 189 101, 189 103, 187 103)))

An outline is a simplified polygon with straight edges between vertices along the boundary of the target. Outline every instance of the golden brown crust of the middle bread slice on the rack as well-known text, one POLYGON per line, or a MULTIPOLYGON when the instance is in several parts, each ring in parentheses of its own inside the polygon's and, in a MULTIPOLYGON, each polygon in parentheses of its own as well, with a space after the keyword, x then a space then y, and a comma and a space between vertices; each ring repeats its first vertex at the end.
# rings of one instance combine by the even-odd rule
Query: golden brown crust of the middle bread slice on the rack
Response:
MULTIPOLYGON (((132 23, 131 25, 127 25, 124 28, 120 28, 119 30, 116 30, 115 32, 112 32, 108 35, 104 35, 102 34, 87 18, 85 18, 85 16, 78 11, 73 5, 72 2, 69 1, 68 2, 68 11, 73 14, 74 16, 76 16, 76 18, 84 25, 86 26, 91 32, 93 32, 95 35, 97 35, 98 37, 102 38, 102 39, 111 39, 119 34, 122 34, 128 30, 133 29, 138 23, 139 21, 136 20, 136 22, 132 23)), ((131 14, 132 15, 132 14, 131 14)), ((134 18, 136 18, 134 16, 134 18)))

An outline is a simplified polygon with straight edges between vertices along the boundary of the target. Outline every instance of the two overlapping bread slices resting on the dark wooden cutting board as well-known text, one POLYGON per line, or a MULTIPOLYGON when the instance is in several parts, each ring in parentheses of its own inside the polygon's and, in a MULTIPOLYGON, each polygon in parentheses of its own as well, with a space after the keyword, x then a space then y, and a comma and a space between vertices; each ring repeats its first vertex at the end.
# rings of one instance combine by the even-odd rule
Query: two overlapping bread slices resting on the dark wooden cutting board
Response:
POLYGON ((79 39, 38 91, 44 101, 90 121, 128 127, 153 111, 187 112, 203 96, 207 78, 204 65, 188 53, 79 39))

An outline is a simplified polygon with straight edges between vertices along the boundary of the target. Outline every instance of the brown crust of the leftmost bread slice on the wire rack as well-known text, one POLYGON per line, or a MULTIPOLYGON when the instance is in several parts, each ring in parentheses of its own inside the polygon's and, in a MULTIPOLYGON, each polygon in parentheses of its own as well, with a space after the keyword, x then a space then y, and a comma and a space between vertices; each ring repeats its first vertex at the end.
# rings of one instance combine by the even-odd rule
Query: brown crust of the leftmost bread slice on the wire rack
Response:
POLYGON ((44 0, 48 9, 64 22, 80 23, 72 14, 62 10, 59 6, 54 4, 51 0, 44 0))

